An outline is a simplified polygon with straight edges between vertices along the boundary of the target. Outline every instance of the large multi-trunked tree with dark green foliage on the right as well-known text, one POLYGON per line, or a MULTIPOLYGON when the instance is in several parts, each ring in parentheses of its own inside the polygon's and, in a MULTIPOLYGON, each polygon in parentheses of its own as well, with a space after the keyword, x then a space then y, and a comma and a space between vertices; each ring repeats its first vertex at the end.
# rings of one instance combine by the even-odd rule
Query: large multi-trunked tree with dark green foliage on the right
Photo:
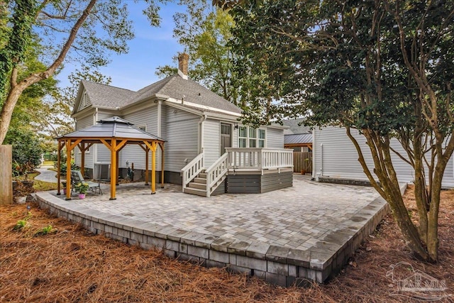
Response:
POLYGON ((275 116, 304 115, 313 126, 344 127, 407 246, 416 258, 436 262, 441 182, 454 150, 454 1, 214 4, 234 16, 240 67, 267 67, 265 75, 249 68, 260 71, 251 78, 275 89, 248 100, 258 109, 253 116, 273 116, 260 103, 271 97, 279 105, 271 108, 275 116), (353 130, 364 136, 373 167, 353 130), (402 199, 393 154, 414 169, 417 218, 402 199))

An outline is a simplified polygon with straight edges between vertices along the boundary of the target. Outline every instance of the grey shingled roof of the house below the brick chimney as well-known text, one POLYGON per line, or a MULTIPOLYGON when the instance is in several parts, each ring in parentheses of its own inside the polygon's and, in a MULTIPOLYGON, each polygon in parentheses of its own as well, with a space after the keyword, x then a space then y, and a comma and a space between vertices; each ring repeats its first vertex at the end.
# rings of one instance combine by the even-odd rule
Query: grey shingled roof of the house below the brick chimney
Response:
MULTIPOLYGON (((82 85, 93 107, 119 108, 121 110, 124 106, 136 104, 156 95, 161 95, 168 96, 170 99, 178 101, 178 104, 199 111, 220 110, 241 114, 241 109, 238 106, 231 104, 231 102, 211 92, 194 80, 183 79, 178 74, 150 84, 138 92, 97 84, 87 80, 82 80, 82 85)), ((77 106, 77 104, 75 105, 77 106)), ((76 112, 77 110, 74 110, 73 114, 76 112)))

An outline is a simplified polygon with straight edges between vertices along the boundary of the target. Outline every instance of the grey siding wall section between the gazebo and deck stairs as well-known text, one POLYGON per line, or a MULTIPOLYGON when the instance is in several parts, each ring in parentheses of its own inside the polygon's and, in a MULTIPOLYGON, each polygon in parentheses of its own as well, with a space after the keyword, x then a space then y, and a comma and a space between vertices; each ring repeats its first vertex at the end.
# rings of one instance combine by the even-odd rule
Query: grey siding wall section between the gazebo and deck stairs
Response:
POLYGON ((199 154, 200 117, 173 108, 167 108, 165 117, 165 170, 181 172, 181 169, 199 154))

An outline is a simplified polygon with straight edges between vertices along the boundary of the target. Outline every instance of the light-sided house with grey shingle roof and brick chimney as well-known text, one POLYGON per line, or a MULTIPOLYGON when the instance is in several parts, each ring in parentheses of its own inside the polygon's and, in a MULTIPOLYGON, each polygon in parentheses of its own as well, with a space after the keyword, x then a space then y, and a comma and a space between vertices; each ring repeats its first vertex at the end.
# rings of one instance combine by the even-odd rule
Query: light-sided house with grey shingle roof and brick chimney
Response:
MULTIPOLYGON (((202 167, 196 167, 197 170, 207 170, 226 153, 226 148, 231 148, 229 168, 232 172, 235 169, 236 175, 246 161, 251 165, 254 160, 265 157, 264 153, 270 152, 269 149, 275 149, 276 155, 283 152, 279 149, 284 147, 285 127, 243 126, 238 122, 241 115, 238 106, 187 77, 188 60, 188 55, 179 55, 177 74, 150 84, 138 92, 82 80, 72 112, 76 130, 92 126, 101 119, 120 116, 136 128, 165 139, 165 182, 175 184, 182 184, 185 176, 183 169, 193 170, 194 167, 187 165, 199 161, 197 165, 202 167), (240 149, 237 150, 238 148, 240 149), (244 148, 249 149, 248 155, 244 148), (253 149, 256 156, 250 154, 253 149), (242 161, 242 164, 238 161, 242 161)), ((158 177, 162 172, 161 158, 162 152, 159 151, 158 177)), ((75 159, 80 165, 80 155, 77 152, 75 159)), ((259 160, 263 161, 256 161, 256 166, 265 165, 265 158, 259 160)), ((85 155, 85 167, 93 172, 94 177, 99 175, 99 170, 104 172, 103 165, 107 167, 109 162, 110 152, 101 144, 94 144, 85 155)), ((121 150, 120 175, 126 174, 126 162, 128 165, 134 163, 135 179, 145 174, 145 160, 140 146, 128 145, 121 150)), ((282 165, 279 160, 273 167, 280 173, 282 168, 291 166, 291 163, 282 165)), ((264 167, 259 166, 255 168, 264 175, 264 167)), ((108 172, 107 169, 105 171, 108 172)), ((265 172, 272 171, 274 172, 268 168, 265 172)), ((187 177, 193 180, 197 176, 187 177)), ((223 177, 217 181, 222 180, 223 177)), ((184 181, 184 187, 191 187, 188 180, 184 181)))

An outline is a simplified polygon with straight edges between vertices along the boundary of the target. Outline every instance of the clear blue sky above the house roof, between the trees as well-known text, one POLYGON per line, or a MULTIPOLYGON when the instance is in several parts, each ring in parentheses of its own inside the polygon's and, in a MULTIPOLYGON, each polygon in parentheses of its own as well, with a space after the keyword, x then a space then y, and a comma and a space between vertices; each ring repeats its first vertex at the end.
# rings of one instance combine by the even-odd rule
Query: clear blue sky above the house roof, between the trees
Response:
MULTIPOLYGON (((176 38, 172 37, 175 23, 173 15, 177 11, 184 12, 184 6, 167 4, 161 6, 160 27, 152 27, 142 10, 145 2, 131 1, 129 6, 130 18, 134 22, 135 38, 128 42, 127 54, 111 54, 111 63, 101 67, 103 75, 112 78, 111 85, 125 89, 138 90, 148 84, 156 82, 159 78, 155 75, 156 68, 160 65, 175 65, 172 57, 184 50, 176 38)), ((71 62, 65 62, 65 67, 57 75, 60 87, 69 85, 67 76, 77 68, 71 62)))

